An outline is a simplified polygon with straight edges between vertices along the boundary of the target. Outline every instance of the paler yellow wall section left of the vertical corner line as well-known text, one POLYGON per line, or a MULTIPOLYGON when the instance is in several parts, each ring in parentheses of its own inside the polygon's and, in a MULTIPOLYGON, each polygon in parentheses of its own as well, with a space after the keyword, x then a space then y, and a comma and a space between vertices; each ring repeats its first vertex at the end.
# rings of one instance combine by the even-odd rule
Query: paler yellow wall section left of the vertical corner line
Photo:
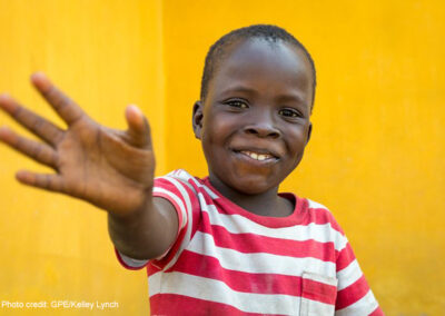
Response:
MULTIPOLYGON (((126 128, 125 107, 137 103, 151 118, 165 172, 161 27, 158 1, 0 0, 0 91, 57 120, 29 85, 29 75, 43 70, 92 117, 118 128, 126 128)), ((10 122, 0 113, 0 125, 10 122)), ((43 168, 3 146, 0 166, 0 304, 116 300, 119 308, 101 314, 148 315, 146 273, 119 266, 106 214, 20 186, 16 170, 43 168)), ((0 307, 0 315, 49 312, 89 314, 0 307)))

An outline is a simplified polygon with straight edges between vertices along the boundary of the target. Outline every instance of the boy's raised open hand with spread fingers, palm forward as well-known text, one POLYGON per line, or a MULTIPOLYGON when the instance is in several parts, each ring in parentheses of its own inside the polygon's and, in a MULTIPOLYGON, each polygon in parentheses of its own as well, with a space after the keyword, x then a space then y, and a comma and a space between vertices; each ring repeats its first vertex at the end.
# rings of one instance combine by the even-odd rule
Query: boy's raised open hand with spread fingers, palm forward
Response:
POLYGON ((65 96, 43 73, 31 81, 67 124, 63 130, 20 106, 7 95, 0 108, 43 142, 24 138, 7 127, 0 140, 56 174, 17 172, 29 186, 87 200, 113 215, 127 215, 144 205, 154 184, 155 157, 150 128, 135 107, 126 109, 128 129, 110 129, 97 124, 65 96))

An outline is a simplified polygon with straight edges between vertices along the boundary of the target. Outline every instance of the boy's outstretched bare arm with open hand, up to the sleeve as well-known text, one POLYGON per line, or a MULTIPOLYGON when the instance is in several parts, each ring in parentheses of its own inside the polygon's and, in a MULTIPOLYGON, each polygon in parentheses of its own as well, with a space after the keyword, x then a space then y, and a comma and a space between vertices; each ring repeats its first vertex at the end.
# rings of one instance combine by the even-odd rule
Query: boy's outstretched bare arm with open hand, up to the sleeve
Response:
POLYGON ((168 201, 152 198, 155 156, 142 112, 136 106, 127 107, 128 129, 111 129, 91 119, 43 73, 34 73, 31 82, 67 124, 67 129, 11 97, 0 96, 0 108, 42 140, 31 140, 1 127, 0 141, 56 171, 21 170, 17 179, 108 211, 110 237, 125 255, 148 259, 167 250, 176 238, 178 219, 168 201))

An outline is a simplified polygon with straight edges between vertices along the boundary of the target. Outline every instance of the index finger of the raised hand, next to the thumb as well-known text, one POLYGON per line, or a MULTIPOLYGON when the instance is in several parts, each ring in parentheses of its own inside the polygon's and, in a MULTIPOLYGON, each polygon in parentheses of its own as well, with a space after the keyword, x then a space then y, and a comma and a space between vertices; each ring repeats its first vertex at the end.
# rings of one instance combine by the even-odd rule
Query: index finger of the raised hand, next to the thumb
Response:
POLYGON ((68 126, 71 126, 85 115, 83 110, 52 85, 42 72, 33 73, 31 81, 68 126))

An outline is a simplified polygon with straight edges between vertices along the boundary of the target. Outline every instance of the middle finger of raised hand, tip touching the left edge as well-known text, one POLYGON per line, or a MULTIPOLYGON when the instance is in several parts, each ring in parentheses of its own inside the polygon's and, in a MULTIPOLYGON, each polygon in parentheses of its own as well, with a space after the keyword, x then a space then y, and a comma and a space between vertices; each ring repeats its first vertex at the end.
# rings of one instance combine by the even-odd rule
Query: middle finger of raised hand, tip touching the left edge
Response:
POLYGON ((63 130, 41 116, 20 106, 7 95, 0 96, 0 108, 32 134, 50 145, 56 145, 63 137, 63 130))

